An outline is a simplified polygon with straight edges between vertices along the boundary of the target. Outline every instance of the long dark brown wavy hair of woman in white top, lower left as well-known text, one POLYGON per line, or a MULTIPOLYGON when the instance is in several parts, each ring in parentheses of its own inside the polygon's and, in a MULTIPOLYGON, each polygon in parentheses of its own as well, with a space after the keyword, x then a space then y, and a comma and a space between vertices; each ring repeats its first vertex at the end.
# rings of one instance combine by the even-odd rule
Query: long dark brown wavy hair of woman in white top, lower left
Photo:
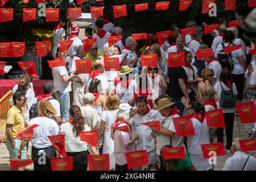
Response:
POLYGON ((73 134, 78 137, 79 133, 84 131, 84 117, 82 117, 80 107, 77 105, 71 106, 69 114, 73 117, 73 134))

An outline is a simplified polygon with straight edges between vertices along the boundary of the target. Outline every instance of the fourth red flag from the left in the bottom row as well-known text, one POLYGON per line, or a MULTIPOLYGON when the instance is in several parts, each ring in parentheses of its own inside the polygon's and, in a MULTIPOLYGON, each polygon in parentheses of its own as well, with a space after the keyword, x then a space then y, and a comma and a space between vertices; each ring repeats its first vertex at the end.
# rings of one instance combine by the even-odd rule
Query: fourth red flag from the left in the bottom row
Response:
POLYGON ((126 152, 125 156, 128 169, 148 164, 148 155, 146 150, 126 152))

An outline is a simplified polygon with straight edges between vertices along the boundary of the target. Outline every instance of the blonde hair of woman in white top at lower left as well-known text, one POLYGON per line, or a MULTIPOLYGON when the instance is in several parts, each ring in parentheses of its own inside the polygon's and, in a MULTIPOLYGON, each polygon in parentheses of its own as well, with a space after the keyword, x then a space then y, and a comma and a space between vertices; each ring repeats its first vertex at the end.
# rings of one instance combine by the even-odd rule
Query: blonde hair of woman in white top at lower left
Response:
POLYGON ((52 115, 56 115, 57 111, 52 106, 51 102, 47 100, 41 100, 38 104, 39 115, 43 115, 44 117, 52 117, 52 115))

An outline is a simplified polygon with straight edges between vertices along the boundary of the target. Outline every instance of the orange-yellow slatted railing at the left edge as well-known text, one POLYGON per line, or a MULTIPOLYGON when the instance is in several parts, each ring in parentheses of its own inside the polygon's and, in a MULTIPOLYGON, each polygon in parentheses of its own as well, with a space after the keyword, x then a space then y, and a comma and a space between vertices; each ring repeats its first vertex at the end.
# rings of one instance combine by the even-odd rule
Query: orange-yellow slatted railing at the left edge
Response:
POLYGON ((13 92, 10 90, 0 99, 0 131, 6 126, 7 113, 11 107, 10 98, 13 92))

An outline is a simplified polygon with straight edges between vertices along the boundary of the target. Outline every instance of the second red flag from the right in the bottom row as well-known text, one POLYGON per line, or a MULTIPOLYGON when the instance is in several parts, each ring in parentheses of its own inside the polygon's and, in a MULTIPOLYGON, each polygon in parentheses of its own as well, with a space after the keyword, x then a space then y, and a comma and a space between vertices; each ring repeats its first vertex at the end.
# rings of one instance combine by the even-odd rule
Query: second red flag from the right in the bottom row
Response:
POLYGON ((210 158, 213 155, 212 152, 216 152, 216 156, 225 155, 224 146, 222 142, 201 144, 201 149, 205 159, 210 158))

